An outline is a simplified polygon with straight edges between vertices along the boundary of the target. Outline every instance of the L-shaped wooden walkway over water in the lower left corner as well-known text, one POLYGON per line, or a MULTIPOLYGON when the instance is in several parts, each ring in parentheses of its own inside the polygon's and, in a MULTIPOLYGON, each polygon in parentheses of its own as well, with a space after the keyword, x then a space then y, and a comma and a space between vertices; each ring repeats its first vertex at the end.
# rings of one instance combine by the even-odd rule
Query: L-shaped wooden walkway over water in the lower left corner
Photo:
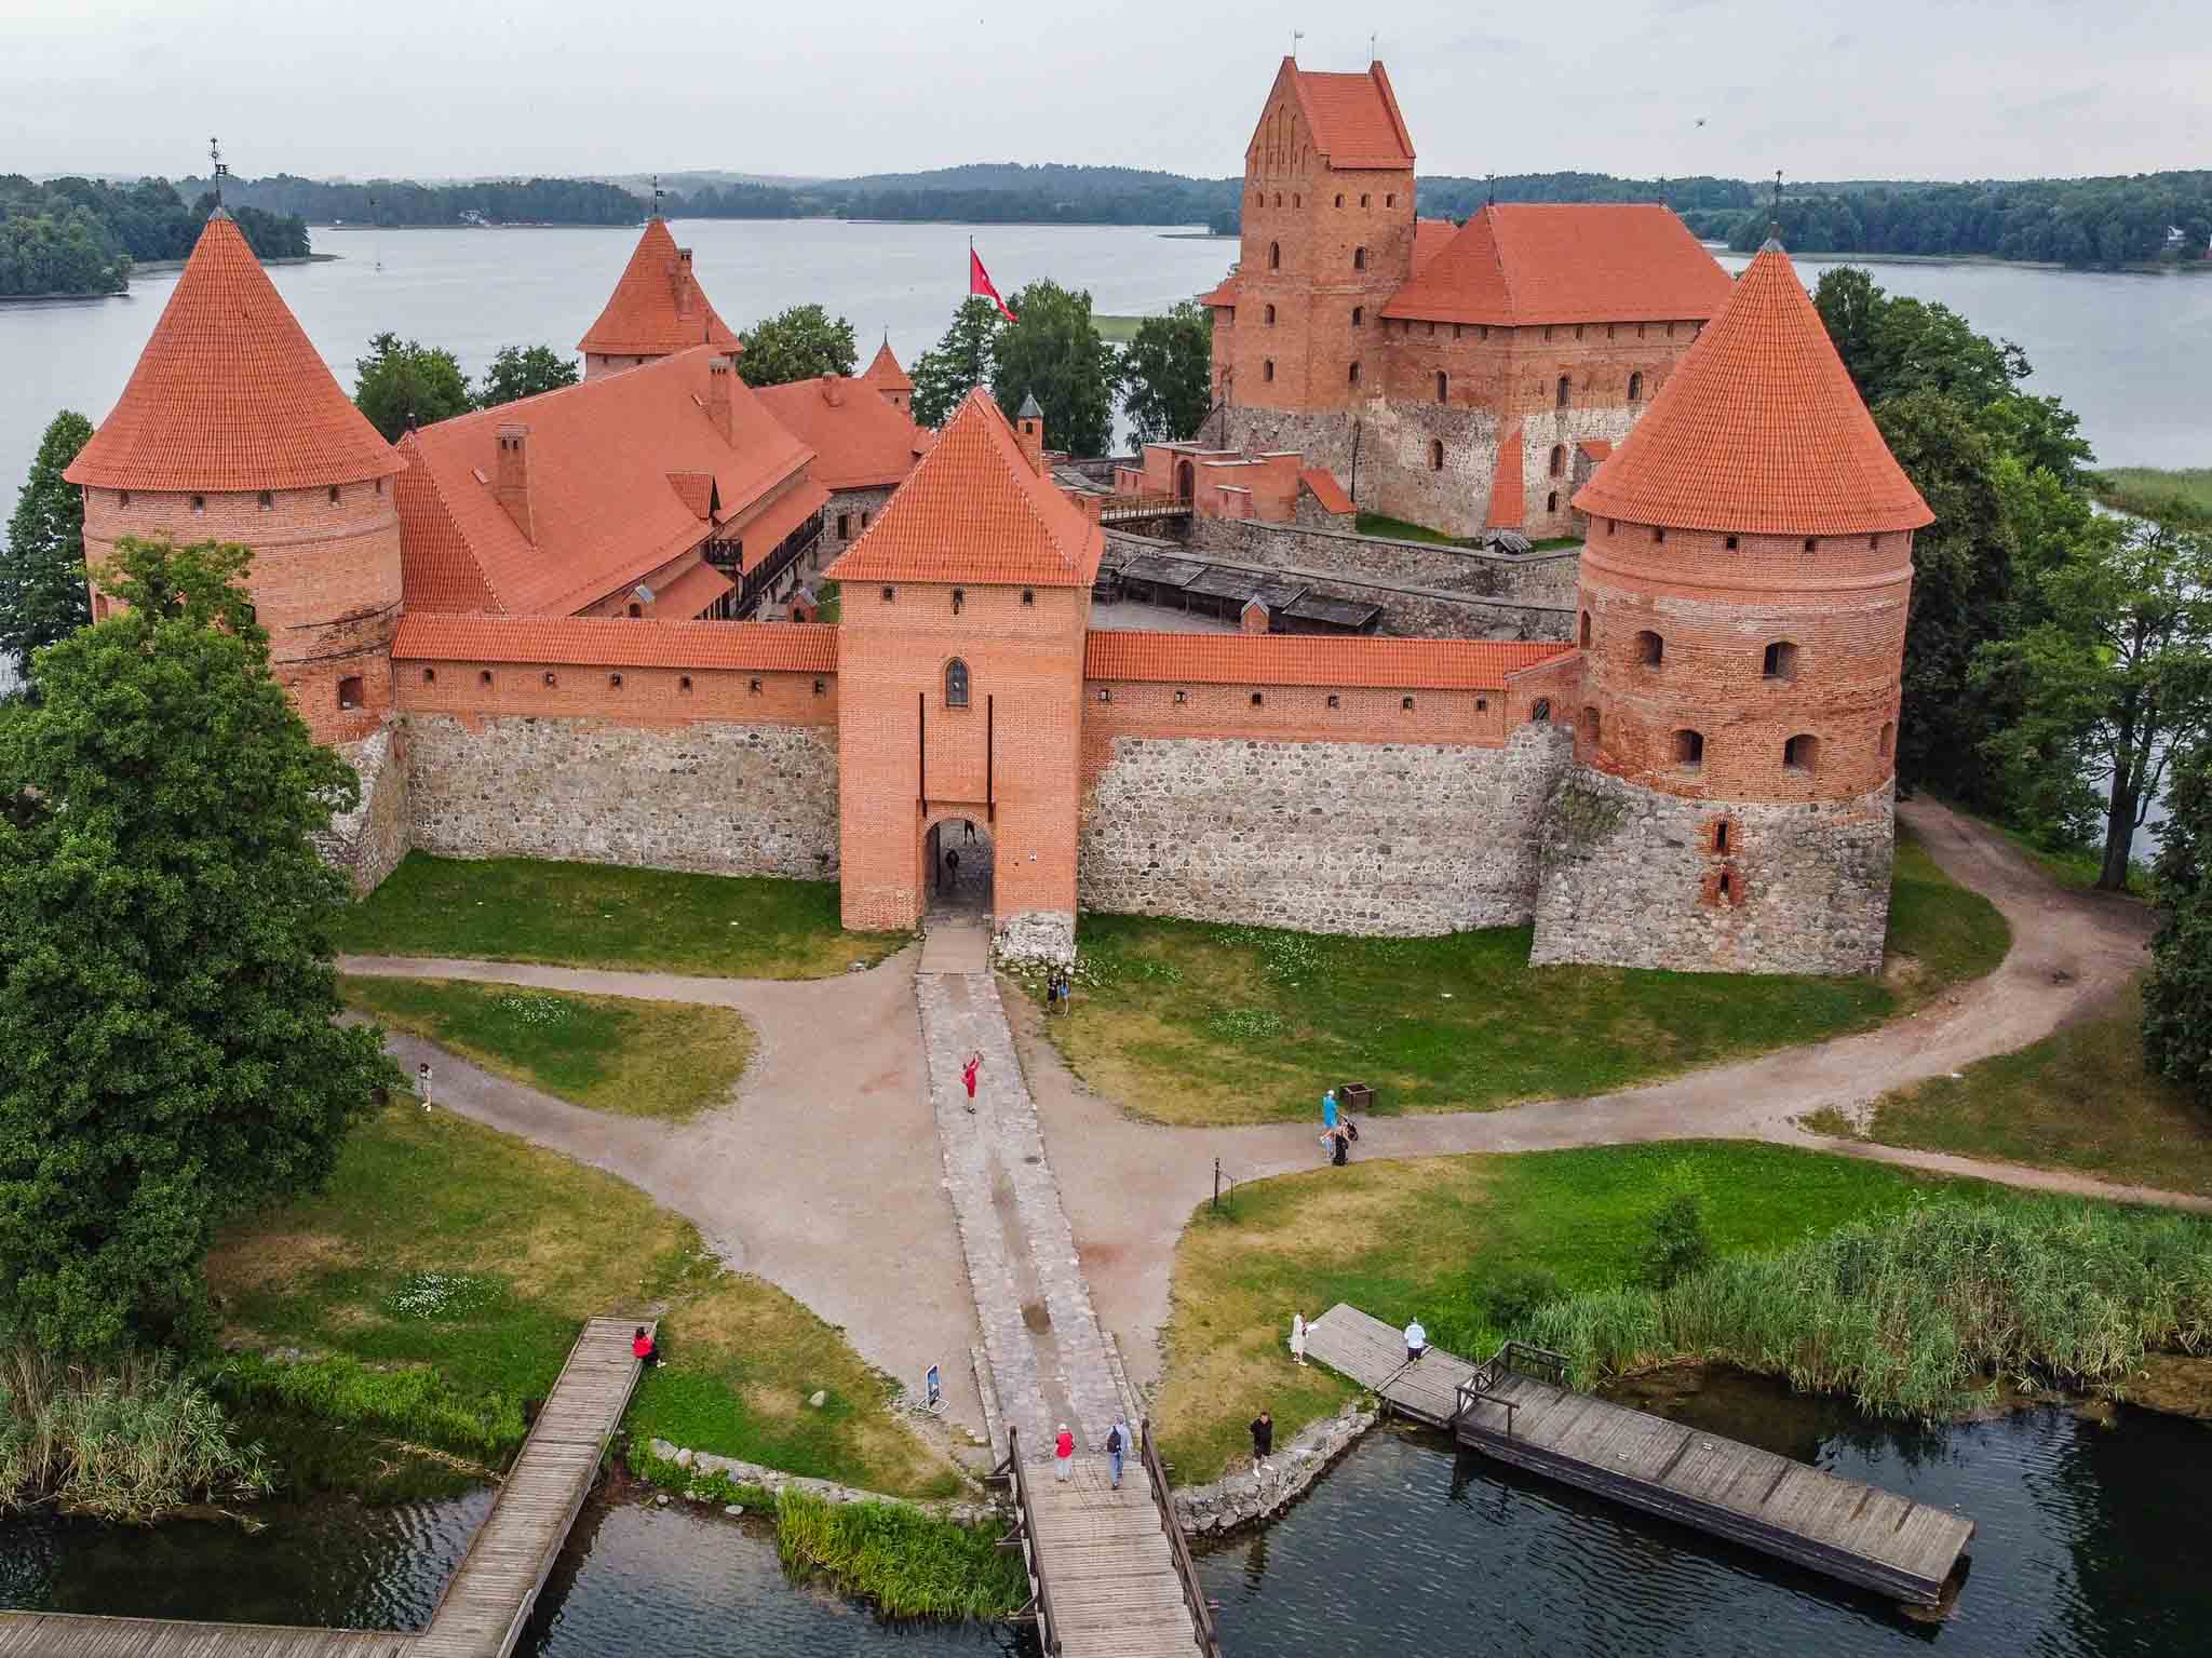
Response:
POLYGON ((584 1324, 420 1634, 0 1612, 0 1658, 507 1658, 630 1404, 635 1329, 619 1318, 584 1324))

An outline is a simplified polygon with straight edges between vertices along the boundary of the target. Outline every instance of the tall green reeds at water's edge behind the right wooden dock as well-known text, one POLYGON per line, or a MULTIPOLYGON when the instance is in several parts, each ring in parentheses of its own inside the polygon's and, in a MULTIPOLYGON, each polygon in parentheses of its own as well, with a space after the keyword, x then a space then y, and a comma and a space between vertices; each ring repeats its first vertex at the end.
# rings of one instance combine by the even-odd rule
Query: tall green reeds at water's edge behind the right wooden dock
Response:
POLYGON ((2108 1205, 1918 1203, 1670 1289, 1610 1289, 1515 1331, 1579 1386, 1674 1357, 1944 1417, 1993 1382, 2124 1393, 2146 1349, 2212 1344, 2212 1225, 2108 1205))

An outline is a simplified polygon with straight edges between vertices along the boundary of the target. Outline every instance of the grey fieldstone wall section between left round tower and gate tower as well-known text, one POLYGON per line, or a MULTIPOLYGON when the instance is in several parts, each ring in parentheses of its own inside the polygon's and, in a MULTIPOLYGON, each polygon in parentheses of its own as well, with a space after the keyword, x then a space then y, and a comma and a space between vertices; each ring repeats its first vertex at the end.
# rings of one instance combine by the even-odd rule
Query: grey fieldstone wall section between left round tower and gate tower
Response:
POLYGON ((414 714, 405 752, 414 844, 445 858, 838 873, 834 727, 414 714))

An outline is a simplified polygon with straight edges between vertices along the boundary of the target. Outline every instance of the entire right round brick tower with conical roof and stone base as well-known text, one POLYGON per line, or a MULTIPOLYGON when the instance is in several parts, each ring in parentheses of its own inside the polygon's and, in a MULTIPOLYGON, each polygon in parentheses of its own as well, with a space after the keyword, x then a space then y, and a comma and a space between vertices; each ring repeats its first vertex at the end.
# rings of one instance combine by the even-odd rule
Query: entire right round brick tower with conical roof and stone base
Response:
POLYGON ((1577 772, 1546 814, 1535 959, 1878 973, 1933 515, 1778 243, 1575 506, 1577 772))

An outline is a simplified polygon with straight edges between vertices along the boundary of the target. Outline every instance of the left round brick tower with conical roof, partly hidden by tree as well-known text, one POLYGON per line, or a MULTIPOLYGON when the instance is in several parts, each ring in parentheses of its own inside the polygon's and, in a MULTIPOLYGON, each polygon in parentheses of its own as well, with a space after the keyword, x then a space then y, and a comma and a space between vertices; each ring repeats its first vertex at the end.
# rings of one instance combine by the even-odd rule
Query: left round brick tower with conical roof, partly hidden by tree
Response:
POLYGON ((323 743, 392 712, 405 462, 361 418, 230 214, 208 219, 115 411, 71 464, 93 615, 117 537, 243 542, 276 679, 323 743))

